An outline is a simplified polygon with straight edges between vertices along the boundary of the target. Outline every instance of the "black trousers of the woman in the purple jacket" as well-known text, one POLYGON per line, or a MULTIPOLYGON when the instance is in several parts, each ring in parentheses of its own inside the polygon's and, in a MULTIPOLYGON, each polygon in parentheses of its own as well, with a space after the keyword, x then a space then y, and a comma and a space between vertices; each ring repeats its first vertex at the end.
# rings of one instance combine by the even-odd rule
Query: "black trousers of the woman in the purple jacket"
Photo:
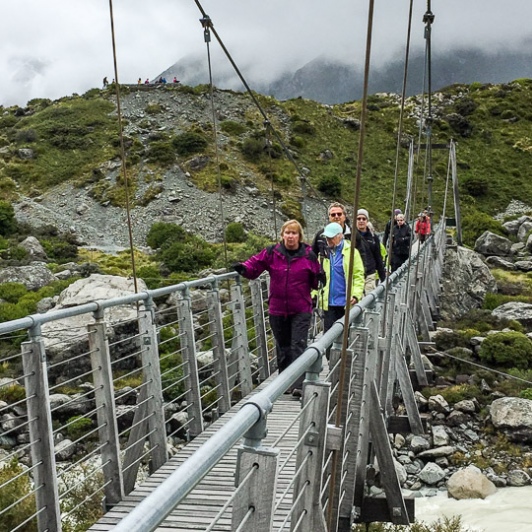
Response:
MULTIPOLYGON (((279 373, 284 371, 307 348, 310 318, 310 312, 290 316, 270 316, 270 327, 277 344, 279 373)), ((304 376, 301 376, 292 385, 292 389, 301 389, 303 380, 304 376)))

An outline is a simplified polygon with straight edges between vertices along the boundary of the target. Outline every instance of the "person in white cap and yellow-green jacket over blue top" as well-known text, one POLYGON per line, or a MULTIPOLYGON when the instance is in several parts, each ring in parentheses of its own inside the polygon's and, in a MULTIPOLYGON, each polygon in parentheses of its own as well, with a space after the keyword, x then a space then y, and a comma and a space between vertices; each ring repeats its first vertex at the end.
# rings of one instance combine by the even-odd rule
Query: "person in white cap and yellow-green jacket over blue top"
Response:
MULTIPOLYGON (((328 331, 336 320, 345 314, 351 242, 345 240, 342 226, 336 222, 327 225, 323 231, 327 249, 320 256, 327 278, 325 286, 317 292, 318 308, 324 311, 323 332, 328 331)), ((354 250, 351 279, 351 305, 356 305, 364 293, 364 263, 358 249, 354 250)))

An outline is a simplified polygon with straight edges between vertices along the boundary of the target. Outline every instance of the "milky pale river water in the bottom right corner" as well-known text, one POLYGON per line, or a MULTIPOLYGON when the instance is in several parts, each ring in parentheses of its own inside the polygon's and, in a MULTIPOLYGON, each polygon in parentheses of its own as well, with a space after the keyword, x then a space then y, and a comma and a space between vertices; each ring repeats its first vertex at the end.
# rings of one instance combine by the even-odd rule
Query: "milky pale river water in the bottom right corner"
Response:
POLYGON ((416 521, 462 516, 470 530, 484 532, 532 532, 532 486, 499 488, 486 499, 457 501, 447 493, 416 499, 416 521))

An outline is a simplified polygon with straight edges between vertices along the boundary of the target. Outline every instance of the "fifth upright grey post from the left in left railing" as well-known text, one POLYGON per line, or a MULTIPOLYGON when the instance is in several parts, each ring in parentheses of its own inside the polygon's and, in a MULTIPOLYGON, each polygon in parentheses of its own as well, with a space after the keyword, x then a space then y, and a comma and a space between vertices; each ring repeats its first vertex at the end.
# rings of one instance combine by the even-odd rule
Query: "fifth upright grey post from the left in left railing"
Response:
POLYGON ((209 327, 212 335, 212 351, 214 353, 214 379, 218 390, 218 407, 220 414, 225 414, 231 408, 231 391, 229 388, 229 372, 227 357, 225 356, 225 339, 220 302, 220 291, 213 287, 207 294, 209 312, 209 327))

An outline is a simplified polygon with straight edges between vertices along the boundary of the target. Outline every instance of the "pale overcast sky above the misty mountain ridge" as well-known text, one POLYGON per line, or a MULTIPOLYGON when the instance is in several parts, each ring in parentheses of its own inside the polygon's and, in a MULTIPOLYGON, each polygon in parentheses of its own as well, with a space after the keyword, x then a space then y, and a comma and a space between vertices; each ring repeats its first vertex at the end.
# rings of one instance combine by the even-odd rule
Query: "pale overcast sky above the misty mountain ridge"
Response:
MULTIPOLYGON (((0 105, 25 105, 100 87, 114 77, 109 0, 1 0, 0 105)), ((368 0, 200 2, 248 81, 316 57, 362 63, 368 0)), ((432 0, 433 53, 453 47, 518 49, 532 29, 531 0, 432 0)), ((375 0, 372 64, 403 57, 409 0, 375 0)), ((426 0, 414 0, 412 46, 424 47, 426 0)), ((113 0, 118 79, 154 78, 205 52, 194 0, 113 0)), ((213 75, 227 62, 214 41, 213 75)), ((205 68, 207 65, 205 63, 205 68)))

